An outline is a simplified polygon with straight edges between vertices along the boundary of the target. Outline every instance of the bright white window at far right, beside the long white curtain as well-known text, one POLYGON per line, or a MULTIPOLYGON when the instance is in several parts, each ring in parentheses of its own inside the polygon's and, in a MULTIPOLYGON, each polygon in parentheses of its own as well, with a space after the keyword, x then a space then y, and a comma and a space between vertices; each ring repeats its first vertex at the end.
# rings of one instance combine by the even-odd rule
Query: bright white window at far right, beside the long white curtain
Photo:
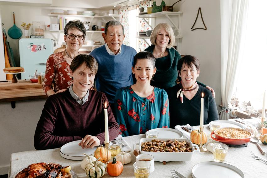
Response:
POLYGON ((238 101, 250 101, 255 110, 262 109, 267 91, 267 1, 249 1, 243 62, 236 90, 238 101))

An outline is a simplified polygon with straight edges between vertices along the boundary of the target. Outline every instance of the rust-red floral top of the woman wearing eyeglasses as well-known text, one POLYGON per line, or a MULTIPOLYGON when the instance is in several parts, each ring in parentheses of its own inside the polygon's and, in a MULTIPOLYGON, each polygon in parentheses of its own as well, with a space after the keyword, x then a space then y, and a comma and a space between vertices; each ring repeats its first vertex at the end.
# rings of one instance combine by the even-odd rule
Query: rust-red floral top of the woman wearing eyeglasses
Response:
POLYGON ((67 63, 62 52, 50 55, 46 62, 44 92, 53 90, 53 83, 55 92, 64 88, 68 89, 73 83, 69 70, 70 65, 67 63))

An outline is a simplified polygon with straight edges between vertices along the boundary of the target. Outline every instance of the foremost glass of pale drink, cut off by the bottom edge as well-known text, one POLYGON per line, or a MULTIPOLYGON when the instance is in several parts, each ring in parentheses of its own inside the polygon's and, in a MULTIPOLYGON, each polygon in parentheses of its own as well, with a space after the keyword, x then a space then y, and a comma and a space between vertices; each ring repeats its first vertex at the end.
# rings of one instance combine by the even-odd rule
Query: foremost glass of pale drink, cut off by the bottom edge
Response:
POLYGON ((139 161, 134 163, 135 178, 148 178, 151 164, 147 161, 139 161))

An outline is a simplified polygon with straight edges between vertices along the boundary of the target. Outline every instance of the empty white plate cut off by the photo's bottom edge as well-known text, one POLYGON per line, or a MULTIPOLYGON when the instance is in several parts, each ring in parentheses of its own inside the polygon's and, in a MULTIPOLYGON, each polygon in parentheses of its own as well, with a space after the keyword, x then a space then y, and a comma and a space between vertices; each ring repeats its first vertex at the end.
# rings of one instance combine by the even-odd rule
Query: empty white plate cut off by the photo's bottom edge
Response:
POLYGON ((193 178, 244 178, 244 173, 235 166, 220 162, 202 162, 192 168, 193 178))

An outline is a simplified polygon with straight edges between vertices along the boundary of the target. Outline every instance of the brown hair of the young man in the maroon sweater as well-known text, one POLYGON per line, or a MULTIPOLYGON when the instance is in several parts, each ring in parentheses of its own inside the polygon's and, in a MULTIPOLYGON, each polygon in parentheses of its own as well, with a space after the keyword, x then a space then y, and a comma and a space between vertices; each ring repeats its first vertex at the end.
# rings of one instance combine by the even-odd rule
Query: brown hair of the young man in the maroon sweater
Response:
POLYGON ((90 69, 94 75, 96 74, 98 70, 97 61, 93 56, 90 56, 88 54, 79 54, 78 56, 76 56, 71 61, 70 70, 74 72, 83 64, 85 64, 86 68, 90 69))

